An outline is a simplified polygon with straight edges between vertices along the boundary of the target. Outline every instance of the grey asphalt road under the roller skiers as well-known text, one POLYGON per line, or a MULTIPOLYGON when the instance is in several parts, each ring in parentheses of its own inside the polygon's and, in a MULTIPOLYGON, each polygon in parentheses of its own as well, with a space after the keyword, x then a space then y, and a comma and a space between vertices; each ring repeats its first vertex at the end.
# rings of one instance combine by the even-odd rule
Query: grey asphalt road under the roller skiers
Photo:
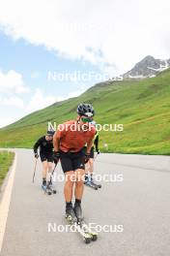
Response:
MULTIPOLYGON (((56 195, 44 195, 41 163, 33 184, 32 151, 16 151, 16 173, 1 256, 170 255, 169 157, 99 155, 96 172, 112 176, 112 181, 101 181, 98 191, 85 187, 82 207, 86 222, 101 227, 110 225, 112 232, 102 231, 99 240, 85 244, 77 233, 48 232, 48 223, 56 227, 67 224, 64 183, 56 182, 56 195), (119 227, 123 227, 122 232, 118 232, 119 227)), ((57 174, 62 174, 60 165, 57 174)))

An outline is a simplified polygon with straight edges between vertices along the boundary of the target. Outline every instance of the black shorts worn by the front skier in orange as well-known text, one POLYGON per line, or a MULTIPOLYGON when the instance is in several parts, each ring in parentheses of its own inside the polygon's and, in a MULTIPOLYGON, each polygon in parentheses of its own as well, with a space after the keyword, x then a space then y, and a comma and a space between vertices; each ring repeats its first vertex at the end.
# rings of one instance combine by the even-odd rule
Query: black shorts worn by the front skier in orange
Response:
POLYGON ((77 169, 85 170, 83 150, 67 153, 60 151, 60 161, 64 173, 75 171, 77 169))

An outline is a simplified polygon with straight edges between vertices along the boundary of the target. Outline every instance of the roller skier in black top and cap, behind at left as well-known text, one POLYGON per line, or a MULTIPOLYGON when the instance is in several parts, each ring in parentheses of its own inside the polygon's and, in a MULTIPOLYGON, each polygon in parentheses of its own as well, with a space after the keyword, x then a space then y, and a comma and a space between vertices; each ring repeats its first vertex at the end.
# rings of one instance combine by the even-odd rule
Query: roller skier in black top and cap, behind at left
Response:
POLYGON ((45 136, 42 136, 36 144, 34 144, 34 154, 39 158, 38 148, 40 148, 40 157, 42 160, 42 185, 46 184, 46 176, 52 171, 53 167, 53 131, 47 131, 45 136))

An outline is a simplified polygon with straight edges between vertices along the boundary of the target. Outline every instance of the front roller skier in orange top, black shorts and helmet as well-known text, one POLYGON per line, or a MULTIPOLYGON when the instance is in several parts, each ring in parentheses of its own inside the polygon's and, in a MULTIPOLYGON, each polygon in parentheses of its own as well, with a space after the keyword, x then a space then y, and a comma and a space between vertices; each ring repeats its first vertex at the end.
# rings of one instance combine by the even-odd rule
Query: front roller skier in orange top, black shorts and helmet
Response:
POLYGON ((90 104, 80 104, 77 108, 78 117, 60 124, 56 131, 54 144, 54 161, 61 161, 63 172, 66 176, 64 188, 66 200, 66 214, 73 220, 82 219, 81 199, 84 188, 85 162, 90 159, 91 147, 96 133, 91 125, 94 108, 90 104), (84 153, 84 145, 87 150, 84 153), (75 204, 72 208, 72 188, 75 183, 75 204))

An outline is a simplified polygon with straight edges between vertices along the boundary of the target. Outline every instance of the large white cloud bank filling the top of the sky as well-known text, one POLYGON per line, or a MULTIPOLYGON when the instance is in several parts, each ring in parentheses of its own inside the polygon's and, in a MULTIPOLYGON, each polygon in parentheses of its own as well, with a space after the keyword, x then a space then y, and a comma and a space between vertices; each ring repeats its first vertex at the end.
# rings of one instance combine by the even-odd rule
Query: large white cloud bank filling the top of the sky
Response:
POLYGON ((169 8, 169 0, 6 0, 0 26, 14 40, 122 73, 145 55, 169 57, 169 8))

